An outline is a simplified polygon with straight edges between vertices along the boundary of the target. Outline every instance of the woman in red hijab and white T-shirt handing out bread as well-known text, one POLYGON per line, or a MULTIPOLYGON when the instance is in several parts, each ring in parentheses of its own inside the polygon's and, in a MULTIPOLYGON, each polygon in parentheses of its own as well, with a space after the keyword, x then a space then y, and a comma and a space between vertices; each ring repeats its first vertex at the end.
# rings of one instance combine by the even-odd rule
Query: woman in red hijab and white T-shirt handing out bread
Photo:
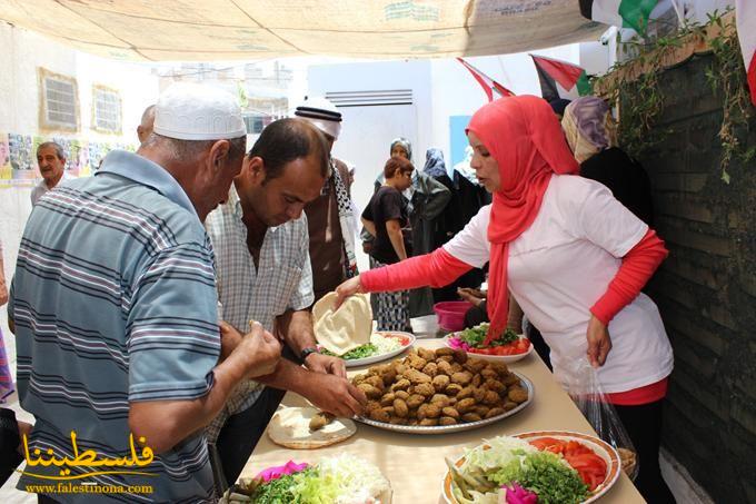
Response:
POLYGON ((470 167, 494 202, 444 247, 367 271, 355 293, 442 287, 490 261, 489 338, 506 328, 509 290, 551 348, 555 377, 587 357, 640 458, 648 502, 674 502, 658 467, 662 402, 673 354, 643 293, 667 250, 603 185, 581 178, 549 105, 519 96, 486 105, 467 129, 470 167))

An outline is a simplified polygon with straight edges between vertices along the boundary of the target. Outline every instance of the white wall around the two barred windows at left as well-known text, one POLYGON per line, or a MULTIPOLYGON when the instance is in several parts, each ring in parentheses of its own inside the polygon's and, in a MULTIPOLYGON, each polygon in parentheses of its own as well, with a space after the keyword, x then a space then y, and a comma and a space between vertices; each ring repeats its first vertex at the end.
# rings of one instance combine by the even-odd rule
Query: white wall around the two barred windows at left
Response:
MULTIPOLYGON (((98 142, 137 145, 137 126, 141 113, 158 97, 158 79, 149 67, 109 61, 84 55, 36 33, 0 22, 0 131, 40 135, 39 89, 37 68, 77 79, 79 91, 80 131, 61 132, 98 142), (90 129, 92 121, 92 85, 120 90, 122 100, 122 135, 103 135, 90 129)), ((48 135, 46 135, 48 136, 48 135)), ((50 135, 52 136, 52 135, 50 135)), ((0 185, 0 241, 3 246, 6 278, 10 281, 16 266, 18 246, 31 213, 30 187, 0 185)), ((0 328, 8 335, 6 309, 0 309, 0 328)), ((10 339, 10 342, 9 342, 10 339)), ((13 353, 14 355, 14 353, 13 353)), ((12 366, 14 368, 14 366, 12 366)))

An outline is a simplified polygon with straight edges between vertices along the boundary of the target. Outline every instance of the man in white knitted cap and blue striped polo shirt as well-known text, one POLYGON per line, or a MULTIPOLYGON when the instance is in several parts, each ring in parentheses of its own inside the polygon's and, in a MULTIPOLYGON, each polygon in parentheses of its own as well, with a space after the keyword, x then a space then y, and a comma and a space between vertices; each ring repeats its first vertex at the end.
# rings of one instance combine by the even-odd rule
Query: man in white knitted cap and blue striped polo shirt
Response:
MULTIPOLYGON (((29 449, 76 457, 76 432, 73 446, 98 458, 129 459, 135 449, 143 457, 142 446, 157 455, 142 470, 150 477, 87 477, 149 485, 149 495, 98 494, 97 502, 210 501, 203 427, 239 382, 278 364, 280 344, 259 324, 245 336, 219 330, 202 227, 227 198, 245 146, 233 97, 173 85, 137 154, 110 152, 93 177, 50 191, 29 218, 8 305, 19 396, 36 419, 29 449)), ((41 481, 24 473, 18 487, 41 481)), ((77 493, 54 498, 90 502, 77 493)))

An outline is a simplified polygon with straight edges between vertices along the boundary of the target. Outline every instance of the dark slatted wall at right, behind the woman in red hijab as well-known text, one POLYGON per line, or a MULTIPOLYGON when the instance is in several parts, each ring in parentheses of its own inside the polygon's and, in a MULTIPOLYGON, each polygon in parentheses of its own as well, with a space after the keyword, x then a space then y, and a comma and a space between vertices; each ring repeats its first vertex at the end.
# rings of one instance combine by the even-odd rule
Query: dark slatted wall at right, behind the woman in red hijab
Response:
MULTIPOLYGON (((756 502, 756 164, 720 178, 712 65, 695 58, 660 77, 649 137, 670 134, 640 160, 670 251, 650 285, 675 350, 663 443, 716 502, 745 503, 756 502)), ((756 146, 756 117, 749 130, 756 146)))

